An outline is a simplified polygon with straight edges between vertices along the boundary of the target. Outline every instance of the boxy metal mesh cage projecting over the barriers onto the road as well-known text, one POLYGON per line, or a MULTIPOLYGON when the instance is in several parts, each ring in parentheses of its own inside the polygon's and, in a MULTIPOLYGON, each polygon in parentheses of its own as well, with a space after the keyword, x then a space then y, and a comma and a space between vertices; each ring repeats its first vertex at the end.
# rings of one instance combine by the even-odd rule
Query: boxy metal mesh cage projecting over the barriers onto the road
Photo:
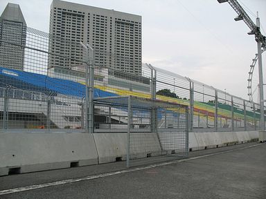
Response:
POLYGON ((134 96, 99 97, 95 106, 100 132, 127 133, 127 167, 188 156, 188 106, 134 96))

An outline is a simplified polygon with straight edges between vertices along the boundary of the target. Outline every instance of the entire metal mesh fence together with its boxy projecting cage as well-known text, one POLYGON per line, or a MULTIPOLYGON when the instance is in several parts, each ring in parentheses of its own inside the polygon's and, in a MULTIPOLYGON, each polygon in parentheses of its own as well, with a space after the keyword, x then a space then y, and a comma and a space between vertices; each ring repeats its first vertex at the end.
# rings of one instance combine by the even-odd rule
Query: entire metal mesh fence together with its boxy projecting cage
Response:
POLYGON ((188 131, 258 129, 259 104, 151 64, 135 73, 125 67, 139 66, 129 56, 24 30, 21 41, 1 32, 0 52, 12 51, 1 54, 1 132, 124 133, 130 167, 186 157, 188 131))

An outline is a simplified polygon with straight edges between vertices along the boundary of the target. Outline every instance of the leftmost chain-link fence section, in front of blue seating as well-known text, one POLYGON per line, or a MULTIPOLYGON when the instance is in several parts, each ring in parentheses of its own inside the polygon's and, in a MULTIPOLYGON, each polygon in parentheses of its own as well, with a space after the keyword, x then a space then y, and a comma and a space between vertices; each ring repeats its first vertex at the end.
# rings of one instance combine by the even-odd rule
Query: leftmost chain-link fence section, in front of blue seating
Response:
MULTIPOLYGON (((3 21, 1 27, 7 28, 3 21)), ((4 55, 8 61, 2 61, 0 66, 1 130, 72 132, 84 129, 85 85, 80 83, 85 82, 85 77, 77 77, 75 69, 85 66, 85 60, 71 57, 73 53, 67 50, 52 48, 58 43, 83 52, 82 46, 33 28, 26 28, 21 41, 10 40, 12 35, 8 34, 11 33, 1 32, 1 51, 14 49, 13 53, 4 55), (26 42, 22 42, 24 40, 26 42), (12 64, 20 54, 23 60, 12 64), (68 73, 58 75, 57 70, 66 62, 68 73)))

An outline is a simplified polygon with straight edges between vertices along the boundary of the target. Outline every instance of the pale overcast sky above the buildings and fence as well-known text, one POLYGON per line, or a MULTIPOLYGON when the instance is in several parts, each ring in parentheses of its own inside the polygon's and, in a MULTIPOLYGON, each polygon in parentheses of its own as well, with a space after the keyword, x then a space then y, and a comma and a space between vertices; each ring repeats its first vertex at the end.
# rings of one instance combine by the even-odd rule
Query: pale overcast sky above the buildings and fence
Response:
MULTIPOLYGON (((247 35, 249 28, 244 21, 233 20, 237 14, 229 3, 217 0, 68 1, 141 15, 144 63, 248 99, 248 73, 257 46, 254 35, 247 35)), ((51 0, 1 0, 0 13, 8 2, 19 4, 27 26, 48 32, 51 0)), ((258 12, 261 32, 266 35, 266 0, 238 2, 254 23, 258 12)), ((265 54, 263 78, 266 83, 265 54)), ((257 71, 254 71, 253 85, 258 84, 257 71)))

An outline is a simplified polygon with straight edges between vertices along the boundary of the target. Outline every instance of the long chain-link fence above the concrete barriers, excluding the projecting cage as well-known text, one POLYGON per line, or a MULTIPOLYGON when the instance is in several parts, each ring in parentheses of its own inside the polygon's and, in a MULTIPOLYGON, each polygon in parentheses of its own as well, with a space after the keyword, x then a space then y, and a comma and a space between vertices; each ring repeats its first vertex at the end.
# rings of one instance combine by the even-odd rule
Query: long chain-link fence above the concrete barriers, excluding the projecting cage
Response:
POLYGON ((150 64, 142 64, 141 74, 136 73, 134 66, 140 63, 129 56, 33 28, 21 28, 23 38, 13 41, 11 33, 3 31, 10 23, 1 21, 0 50, 13 50, 1 55, 1 131, 112 130, 124 125, 127 111, 98 104, 93 108, 90 100, 113 96, 188 106, 190 131, 258 129, 259 104, 150 64), (19 63, 22 66, 15 66, 19 63))

